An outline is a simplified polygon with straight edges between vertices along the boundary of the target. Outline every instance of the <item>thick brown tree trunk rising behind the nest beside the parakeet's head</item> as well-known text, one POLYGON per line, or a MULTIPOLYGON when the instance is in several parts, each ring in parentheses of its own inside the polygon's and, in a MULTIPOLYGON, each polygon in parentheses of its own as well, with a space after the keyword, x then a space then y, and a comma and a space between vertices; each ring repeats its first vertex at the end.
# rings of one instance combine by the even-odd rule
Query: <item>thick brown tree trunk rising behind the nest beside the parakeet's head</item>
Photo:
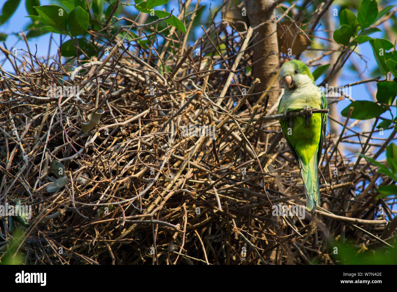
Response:
MULTIPOLYGON (((252 47, 253 62, 259 60, 252 65, 252 75, 254 78, 260 79, 260 83, 256 86, 255 92, 261 92, 269 90, 268 87, 270 83, 272 83, 274 75, 278 74, 279 69, 278 40, 277 33, 275 33, 277 25, 275 19, 272 19, 272 17, 276 15, 274 12, 276 5, 273 0, 245 0, 245 7, 247 8, 247 16, 252 28, 266 22, 264 25, 254 30, 254 35, 256 36, 252 40, 252 44, 259 42, 252 47), (265 37, 267 38, 264 39, 265 37)), ((278 78, 273 82, 270 89, 279 89, 278 78)), ((272 91, 268 94, 270 95, 268 108, 270 108, 277 102, 279 92, 272 91)), ((259 98, 260 95, 257 95, 256 99, 259 98)), ((264 100, 265 99, 263 99, 263 101, 264 100)))

